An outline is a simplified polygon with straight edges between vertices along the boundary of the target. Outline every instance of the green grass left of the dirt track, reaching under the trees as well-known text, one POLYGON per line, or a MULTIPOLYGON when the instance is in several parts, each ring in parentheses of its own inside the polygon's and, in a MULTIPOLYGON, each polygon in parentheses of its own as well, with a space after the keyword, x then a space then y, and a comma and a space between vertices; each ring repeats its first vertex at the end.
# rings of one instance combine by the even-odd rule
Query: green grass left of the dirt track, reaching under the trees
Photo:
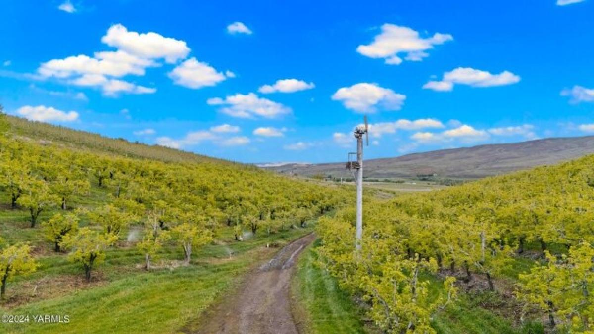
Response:
MULTIPOLYGON (((14 229, 14 234, 23 239, 29 231, 40 232, 14 229)), ((309 232, 311 228, 288 229, 234 242, 233 232, 225 228, 219 244, 195 250, 190 266, 151 272, 141 269, 143 256, 134 247, 112 248, 105 263, 93 273, 94 277, 100 277, 100 282, 78 286, 74 291, 62 287, 56 295, 18 307, 0 306, 2 314, 30 316, 26 324, 0 323, 0 333, 176 333, 200 317, 217 297, 238 282, 242 273, 261 260, 259 254, 267 244, 282 247, 309 232), (70 320, 69 323, 34 323, 34 314, 68 315, 70 320)), ((170 245, 161 252, 160 259, 182 259, 182 250, 170 245)), ((69 263, 66 254, 40 256, 37 261, 40 264, 37 272, 8 283, 9 297, 30 294, 24 286, 30 287, 31 282, 83 275, 82 268, 69 263)))

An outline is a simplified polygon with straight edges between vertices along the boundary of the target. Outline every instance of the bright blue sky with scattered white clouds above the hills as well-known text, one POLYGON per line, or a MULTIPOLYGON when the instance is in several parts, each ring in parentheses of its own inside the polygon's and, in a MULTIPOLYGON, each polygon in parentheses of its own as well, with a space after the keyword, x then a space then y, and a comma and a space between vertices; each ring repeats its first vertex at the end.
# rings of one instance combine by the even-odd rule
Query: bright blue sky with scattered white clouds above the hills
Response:
POLYGON ((241 162, 594 133, 594 1, 2 1, 9 114, 241 162))

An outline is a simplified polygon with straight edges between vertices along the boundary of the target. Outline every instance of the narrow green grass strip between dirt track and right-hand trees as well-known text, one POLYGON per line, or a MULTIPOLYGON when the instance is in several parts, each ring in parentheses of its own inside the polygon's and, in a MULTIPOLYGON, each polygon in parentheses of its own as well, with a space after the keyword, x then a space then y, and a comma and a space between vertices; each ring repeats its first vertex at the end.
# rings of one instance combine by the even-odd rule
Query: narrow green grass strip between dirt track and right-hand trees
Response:
POLYGON ((304 329, 307 333, 366 333, 362 310, 318 266, 315 245, 301 254, 291 284, 304 329))

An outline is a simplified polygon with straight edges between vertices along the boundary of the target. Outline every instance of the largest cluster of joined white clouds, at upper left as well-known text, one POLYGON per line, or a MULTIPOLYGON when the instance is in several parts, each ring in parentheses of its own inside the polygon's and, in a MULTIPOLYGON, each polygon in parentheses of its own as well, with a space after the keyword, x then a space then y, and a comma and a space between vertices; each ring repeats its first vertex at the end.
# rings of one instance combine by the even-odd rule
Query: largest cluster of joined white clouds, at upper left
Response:
MULTIPOLYGON (((77 86, 100 87, 108 96, 118 93, 154 93, 156 90, 153 88, 137 86, 119 78, 144 75, 147 68, 161 66, 159 61, 173 64, 185 59, 190 52, 183 40, 154 32, 129 31, 122 24, 111 26, 102 37, 102 42, 113 46, 116 51, 95 52, 92 57, 74 55, 52 59, 42 63, 37 74, 40 78, 53 77, 77 86)), ((169 75, 176 83, 188 87, 213 86, 225 79, 225 75, 217 73, 205 63, 197 62, 195 58, 182 63, 169 75)))

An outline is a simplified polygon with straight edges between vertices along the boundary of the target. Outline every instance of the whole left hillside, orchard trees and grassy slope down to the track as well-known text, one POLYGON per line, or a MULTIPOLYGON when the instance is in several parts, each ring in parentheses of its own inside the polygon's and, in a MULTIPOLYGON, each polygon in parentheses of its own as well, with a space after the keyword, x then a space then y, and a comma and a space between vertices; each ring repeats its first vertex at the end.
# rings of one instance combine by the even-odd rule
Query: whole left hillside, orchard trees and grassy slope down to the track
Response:
POLYGON ((340 187, 8 121, 0 116, 0 312, 23 321, 3 319, 1 333, 185 332, 348 203, 340 187))

